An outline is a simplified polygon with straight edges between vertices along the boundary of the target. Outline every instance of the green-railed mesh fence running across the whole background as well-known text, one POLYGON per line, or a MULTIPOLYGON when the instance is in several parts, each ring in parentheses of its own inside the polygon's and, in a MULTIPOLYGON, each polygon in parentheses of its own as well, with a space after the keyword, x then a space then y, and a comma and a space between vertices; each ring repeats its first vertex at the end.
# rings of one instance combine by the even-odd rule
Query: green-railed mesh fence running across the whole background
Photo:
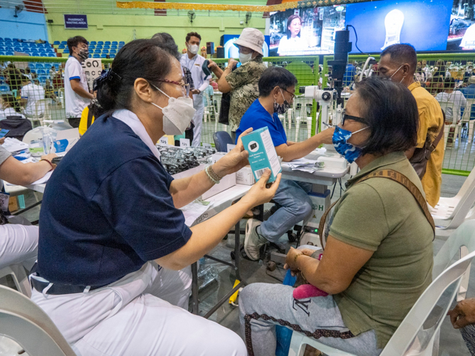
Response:
MULTIPOLYGON (((379 56, 374 57, 379 60, 379 56)), ((290 70, 296 75, 298 86, 319 85, 321 76, 320 85, 325 88, 331 75, 331 67, 328 66, 331 59, 333 56, 323 57, 320 73, 318 56, 263 58, 263 61, 266 66, 281 66, 290 70)), ((113 61, 108 58, 100 60, 103 68, 108 68, 113 61)), ((348 90, 360 78, 366 60, 366 55, 349 56, 349 67, 344 78, 348 90)), ((417 60, 415 79, 439 101, 446 115, 444 172, 466 175, 475 167, 475 76, 472 78, 475 73, 471 71, 475 53, 420 54, 417 60)), ((32 120, 33 125, 40 125, 43 119, 65 120, 66 61, 67 58, 43 56, 0 56, 3 103, 0 116, 16 113, 32 120), (10 63, 9 66, 6 63, 10 63), (28 80, 31 83, 28 84, 28 80)), ((221 68, 227 63, 225 59, 214 61, 221 68)), ((366 69, 364 76, 376 75, 376 70, 376 67, 366 69)), ((314 135, 315 129, 320 130, 321 127, 315 101, 299 95, 298 87, 296 94, 291 110, 280 118, 288 140, 298 142, 314 135)), ((230 132, 230 127, 218 122, 221 93, 214 90, 213 95, 205 93, 205 97, 202 142, 214 144, 213 133, 221 130, 230 132)))

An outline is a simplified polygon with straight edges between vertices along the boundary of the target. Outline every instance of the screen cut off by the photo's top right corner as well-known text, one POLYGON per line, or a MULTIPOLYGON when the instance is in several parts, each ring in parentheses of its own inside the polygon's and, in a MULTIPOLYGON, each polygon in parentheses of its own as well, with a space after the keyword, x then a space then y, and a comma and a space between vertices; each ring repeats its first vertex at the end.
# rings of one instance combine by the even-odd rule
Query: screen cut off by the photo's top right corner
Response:
POLYGON ((454 0, 451 13, 447 51, 475 50, 475 11, 473 1, 454 0))

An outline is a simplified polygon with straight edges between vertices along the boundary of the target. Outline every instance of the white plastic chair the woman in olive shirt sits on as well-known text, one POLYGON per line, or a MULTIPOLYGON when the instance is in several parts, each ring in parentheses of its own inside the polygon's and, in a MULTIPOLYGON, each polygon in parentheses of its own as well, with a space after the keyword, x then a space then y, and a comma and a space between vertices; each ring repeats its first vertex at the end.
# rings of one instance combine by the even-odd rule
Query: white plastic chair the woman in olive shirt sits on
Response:
MULTIPOLYGON (((442 321, 446 318, 455 295, 460 293, 462 280, 466 276, 466 271, 470 268, 472 259, 475 258, 474 250, 475 221, 466 221, 437 253, 432 269, 434 281, 424 290, 424 293, 409 310, 380 356, 432 356, 433 350, 438 350, 442 321), (471 251, 471 253, 461 257, 459 261, 445 269, 457 253, 464 255, 466 251, 471 251), (453 290, 449 290, 449 297, 447 298, 447 295, 444 295, 441 298, 442 294, 453 285, 453 290), (434 318, 434 316, 437 318, 434 318), (424 325, 426 322, 430 326, 424 325), (426 327, 425 329, 423 329, 423 325, 426 327)), ((295 331, 292 335, 288 356, 303 356, 306 345, 315 347, 330 356, 355 356, 349 352, 323 345, 317 340, 295 331)))

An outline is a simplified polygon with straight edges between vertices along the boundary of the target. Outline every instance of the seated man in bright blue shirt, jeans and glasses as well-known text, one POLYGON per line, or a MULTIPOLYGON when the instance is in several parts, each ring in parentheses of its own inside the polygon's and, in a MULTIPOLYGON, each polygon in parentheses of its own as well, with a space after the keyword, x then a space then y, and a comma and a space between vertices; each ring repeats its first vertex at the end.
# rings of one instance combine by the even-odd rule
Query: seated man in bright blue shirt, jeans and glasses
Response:
MULTIPOLYGON (((302 158, 322 143, 331 143, 332 130, 325 130, 303 142, 287 141, 287 135, 278 114, 285 113, 293 103, 297 78, 281 67, 264 70, 259 80, 259 98, 241 118, 236 137, 252 127, 257 130, 268 127, 277 155, 284 162, 302 158)), ((312 212, 312 201, 308 197, 311 184, 282 179, 273 197, 280 208, 266 221, 249 219, 246 225, 244 251, 251 260, 259 259, 259 248, 266 241, 277 243, 283 234, 312 212)))

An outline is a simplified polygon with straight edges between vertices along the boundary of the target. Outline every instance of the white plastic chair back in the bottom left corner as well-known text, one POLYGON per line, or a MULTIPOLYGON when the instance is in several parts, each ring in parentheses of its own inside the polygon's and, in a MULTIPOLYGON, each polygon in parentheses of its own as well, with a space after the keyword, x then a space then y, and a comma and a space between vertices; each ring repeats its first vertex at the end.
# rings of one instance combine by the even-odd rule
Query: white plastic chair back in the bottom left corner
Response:
POLYGON ((0 335, 11 338, 29 356, 75 356, 53 321, 21 293, 0 286, 0 335))

